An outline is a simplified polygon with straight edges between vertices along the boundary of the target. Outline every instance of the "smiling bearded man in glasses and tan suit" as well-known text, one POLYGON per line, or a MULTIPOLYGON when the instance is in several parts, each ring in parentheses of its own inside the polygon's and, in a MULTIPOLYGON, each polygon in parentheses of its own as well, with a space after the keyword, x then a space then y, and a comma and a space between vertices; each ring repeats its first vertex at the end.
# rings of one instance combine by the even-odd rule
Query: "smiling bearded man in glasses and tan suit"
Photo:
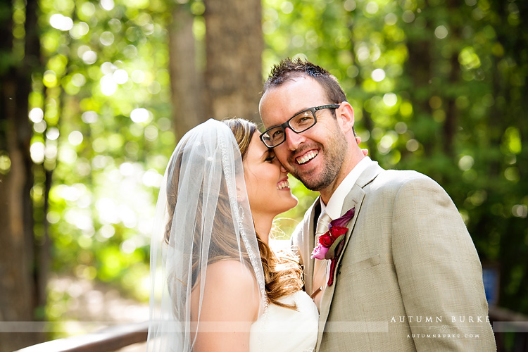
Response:
POLYGON ((482 267, 453 201, 429 177, 363 156, 336 78, 283 60, 259 108, 262 141, 320 193, 293 237, 320 310, 317 351, 496 351, 482 267), (310 258, 347 212, 335 263, 310 258))

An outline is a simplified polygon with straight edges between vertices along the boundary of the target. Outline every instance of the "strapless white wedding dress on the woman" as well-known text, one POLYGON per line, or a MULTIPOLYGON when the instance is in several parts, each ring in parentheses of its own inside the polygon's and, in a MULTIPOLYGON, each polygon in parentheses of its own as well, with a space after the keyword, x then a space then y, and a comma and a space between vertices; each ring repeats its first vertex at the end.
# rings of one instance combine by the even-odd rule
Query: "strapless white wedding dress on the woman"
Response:
POLYGON ((296 303, 297 309, 268 306, 251 325, 249 352, 312 352, 318 339, 318 308, 304 291, 279 299, 296 303))

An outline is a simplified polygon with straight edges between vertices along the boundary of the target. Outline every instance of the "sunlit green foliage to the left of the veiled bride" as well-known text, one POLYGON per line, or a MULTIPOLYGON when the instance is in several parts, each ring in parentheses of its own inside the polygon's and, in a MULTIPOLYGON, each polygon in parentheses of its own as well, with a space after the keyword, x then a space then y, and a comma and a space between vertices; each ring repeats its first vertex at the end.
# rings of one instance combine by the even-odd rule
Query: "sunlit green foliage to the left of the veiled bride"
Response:
MULTIPOLYGON (((141 0, 39 5, 46 67, 32 77, 32 158, 53 175, 52 270, 146 300, 138 282, 149 275, 153 206, 175 146, 168 8, 141 0)), ((36 213, 44 182, 37 177, 32 191, 36 213)), ((54 311, 49 318, 60 317, 54 311)))

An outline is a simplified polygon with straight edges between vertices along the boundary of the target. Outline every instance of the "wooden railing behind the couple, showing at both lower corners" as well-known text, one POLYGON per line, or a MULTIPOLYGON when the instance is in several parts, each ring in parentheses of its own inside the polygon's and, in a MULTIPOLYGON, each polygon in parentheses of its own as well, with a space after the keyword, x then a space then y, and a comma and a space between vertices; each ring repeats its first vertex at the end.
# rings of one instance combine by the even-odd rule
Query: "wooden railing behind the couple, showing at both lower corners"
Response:
MULTIPOLYGON (((528 351, 528 317, 500 307, 489 308, 489 320, 494 322, 513 322, 511 330, 516 330, 510 337, 506 349, 505 337, 508 332, 495 332, 497 351, 528 351)), ((57 339, 15 352, 111 352, 120 348, 146 341, 148 322, 109 327, 94 334, 84 334, 76 337, 57 339)))

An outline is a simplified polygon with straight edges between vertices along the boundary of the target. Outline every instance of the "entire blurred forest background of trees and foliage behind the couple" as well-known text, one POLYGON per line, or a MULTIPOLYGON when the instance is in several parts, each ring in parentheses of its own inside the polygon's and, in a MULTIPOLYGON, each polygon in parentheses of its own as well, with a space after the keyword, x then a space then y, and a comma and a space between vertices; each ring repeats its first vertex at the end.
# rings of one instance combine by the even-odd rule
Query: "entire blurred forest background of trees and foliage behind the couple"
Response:
MULTIPOLYGON (((0 320, 61 321, 64 277, 148 301, 178 139, 208 118, 260 123, 287 56, 339 79, 382 167, 448 191, 498 272, 490 303, 527 314, 528 1, 2 0, 0 320)), ((298 221, 314 194, 294 193, 298 221)), ((15 335, 0 351, 37 342, 15 335)))

